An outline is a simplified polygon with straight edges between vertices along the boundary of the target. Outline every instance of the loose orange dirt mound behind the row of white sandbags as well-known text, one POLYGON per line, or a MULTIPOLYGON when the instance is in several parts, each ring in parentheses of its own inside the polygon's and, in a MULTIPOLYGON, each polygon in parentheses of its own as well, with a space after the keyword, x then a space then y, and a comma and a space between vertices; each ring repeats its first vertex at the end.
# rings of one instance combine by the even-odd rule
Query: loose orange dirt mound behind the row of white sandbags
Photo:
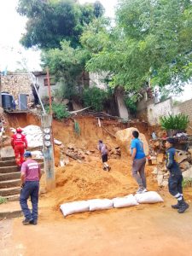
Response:
MULTIPOLYGON (((113 198, 134 193, 137 183, 131 177, 130 160, 109 160, 112 170, 104 172, 101 160, 95 157, 89 163, 72 161, 65 167, 56 169, 56 189, 47 194, 54 209, 67 201, 93 198, 113 198)), ((146 166, 150 189, 157 189, 152 182, 153 167, 146 166), (150 181, 150 182, 149 182, 150 181)))

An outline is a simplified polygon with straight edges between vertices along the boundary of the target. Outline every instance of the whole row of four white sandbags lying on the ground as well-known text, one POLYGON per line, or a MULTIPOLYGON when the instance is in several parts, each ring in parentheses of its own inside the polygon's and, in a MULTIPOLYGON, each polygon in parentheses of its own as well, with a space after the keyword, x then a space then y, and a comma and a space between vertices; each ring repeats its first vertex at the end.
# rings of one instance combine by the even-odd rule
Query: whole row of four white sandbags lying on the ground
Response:
POLYGON ((125 197, 117 197, 110 199, 92 199, 88 201, 67 202, 60 206, 64 217, 73 213, 93 212, 99 210, 108 210, 111 208, 134 207, 139 204, 151 204, 163 202, 163 199, 157 192, 149 191, 143 194, 126 195, 125 197))

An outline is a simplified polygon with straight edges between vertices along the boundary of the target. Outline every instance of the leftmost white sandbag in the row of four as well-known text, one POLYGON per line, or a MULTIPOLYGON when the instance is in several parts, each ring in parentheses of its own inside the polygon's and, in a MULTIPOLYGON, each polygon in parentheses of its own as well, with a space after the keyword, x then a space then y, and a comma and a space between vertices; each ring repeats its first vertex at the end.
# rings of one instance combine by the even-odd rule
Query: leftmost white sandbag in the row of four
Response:
POLYGON ((79 212, 89 212, 90 205, 88 201, 73 201, 62 204, 60 206, 61 212, 66 217, 67 215, 79 212))

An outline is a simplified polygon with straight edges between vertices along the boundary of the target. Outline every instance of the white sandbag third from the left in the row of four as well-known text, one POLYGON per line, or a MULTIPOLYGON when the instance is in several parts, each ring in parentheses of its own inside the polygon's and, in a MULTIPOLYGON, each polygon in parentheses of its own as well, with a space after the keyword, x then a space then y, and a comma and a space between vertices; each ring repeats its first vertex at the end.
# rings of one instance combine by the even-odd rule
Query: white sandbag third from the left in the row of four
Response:
POLYGON ((133 207, 137 205, 138 205, 138 202, 134 195, 127 195, 125 197, 113 198, 113 207, 115 208, 133 207))

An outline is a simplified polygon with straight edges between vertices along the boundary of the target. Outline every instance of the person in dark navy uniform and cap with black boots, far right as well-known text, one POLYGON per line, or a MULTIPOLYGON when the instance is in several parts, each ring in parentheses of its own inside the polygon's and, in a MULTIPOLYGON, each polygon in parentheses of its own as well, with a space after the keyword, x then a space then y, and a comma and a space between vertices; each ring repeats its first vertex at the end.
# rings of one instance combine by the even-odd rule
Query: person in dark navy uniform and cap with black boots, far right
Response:
POLYGON ((179 168, 176 157, 176 149, 173 148, 174 138, 168 137, 166 139, 166 168, 170 172, 168 180, 169 192, 177 199, 177 204, 172 205, 173 209, 177 209, 178 213, 183 213, 189 208, 189 204, 184 201, 182 181, 183 176, 179 168))

